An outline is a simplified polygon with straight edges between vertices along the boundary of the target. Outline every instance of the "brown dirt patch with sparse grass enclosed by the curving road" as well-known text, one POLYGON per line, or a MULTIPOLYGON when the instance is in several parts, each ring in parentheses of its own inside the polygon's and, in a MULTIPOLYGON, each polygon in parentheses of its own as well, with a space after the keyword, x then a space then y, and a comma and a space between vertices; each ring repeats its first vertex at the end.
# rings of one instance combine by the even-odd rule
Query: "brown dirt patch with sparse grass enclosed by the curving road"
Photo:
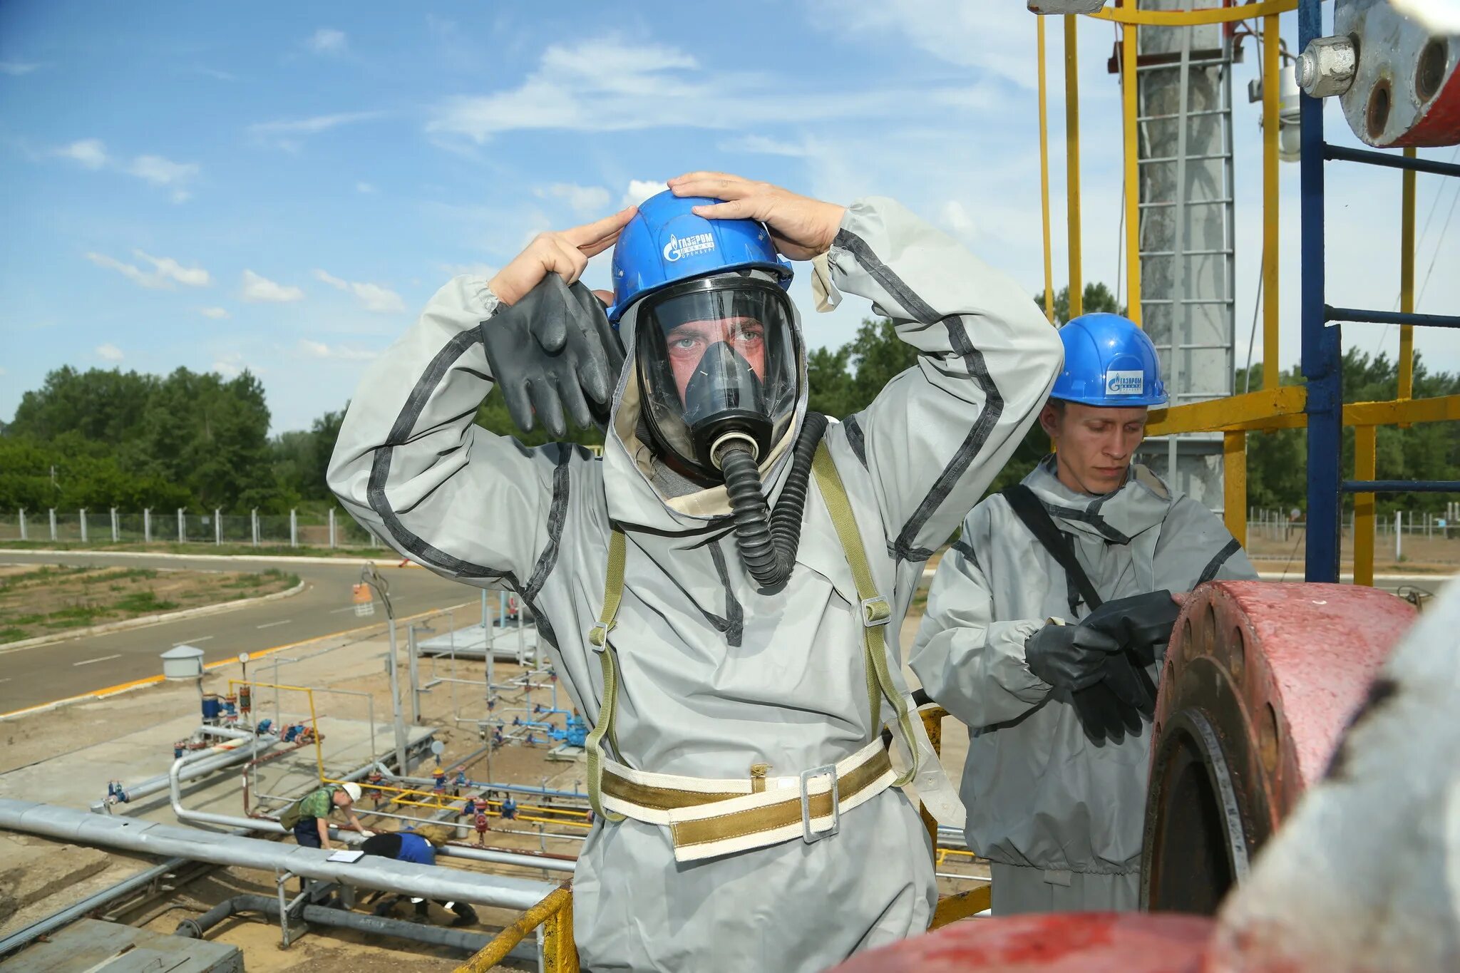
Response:
POLYGON ((296 575, 152 567, 0 567, 0 643, 139 616, 257 598, 296 575))

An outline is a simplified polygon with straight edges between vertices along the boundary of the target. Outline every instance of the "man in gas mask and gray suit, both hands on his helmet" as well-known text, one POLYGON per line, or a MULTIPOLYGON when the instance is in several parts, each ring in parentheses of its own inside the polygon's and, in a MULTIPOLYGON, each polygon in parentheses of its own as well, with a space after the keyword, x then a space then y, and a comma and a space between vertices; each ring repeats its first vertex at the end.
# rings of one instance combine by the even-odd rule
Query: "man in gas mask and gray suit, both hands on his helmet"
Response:
POLYGON ((670 187, 442 287, 366 373, 330 484, 413 560, 515 589, 594 721, 584 969, 819 970, 929 923, 927 834, 892 785, 927 802, 942 775, 886 633, 1060 346, 1013 280, 891 200, 670 187), (604 312, 577 280, 610 245, 604 312), (918 350, 845 422, 806 411, 783 255, 918 350), (602 461, 474 426, 493 381, 524 429, 606 419, 602 461))

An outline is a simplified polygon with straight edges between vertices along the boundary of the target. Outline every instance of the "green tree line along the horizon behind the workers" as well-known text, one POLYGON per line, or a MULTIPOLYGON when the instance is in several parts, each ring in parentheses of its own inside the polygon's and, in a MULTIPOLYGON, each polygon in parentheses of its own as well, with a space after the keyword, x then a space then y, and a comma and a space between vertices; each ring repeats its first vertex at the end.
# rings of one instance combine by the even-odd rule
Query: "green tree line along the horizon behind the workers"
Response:
MULTIPOLYGON (((1044 306, 1044 295, 1035 296, 1044 306)), ((1054 317, 1069 317, 1069 289, 1054 298, 1054 317)), ((1085 286, 1083 309, 1123 312, 1101 283, 1085 286)), ((977 340, 977 336, 974 336, 977 340)), ((810 408, 844 419, 864 408, 899 372, 915 365, 914 350, 888 319, 866 319, 845 344, 807 354, 810 408)), ((1301 384, 1296 368, 1283 384, 1301 384)), ((1261 388, 1261 365, 1238 375, 1237 387, 1261 388)), ((1343 356, 1345 401, 1394 398, 1399 369, 1384 354, 1349 349, 1343 356)), ((1460 376, 1415 363, 1415 397, 1460 394, 1460 376)), ((187 508, 229 513, 257 508, 323 511, 333 499, 324 481, 345 410, 327 411, 310 429, 269 436, 263 385, 244 372, 235 378, 180 368, 166 376, 61 368, 20 400, 15 420, 0 430, 0 511, 187 508)), ((524 445, 548 442, 537 427, 518 432, 493 389, 476 422, 524 445)), ((568 439, 599 445, 597 429, 569 430, 568 439)), ((1022 478, 1048 451, 1034 426, 991 490, 1022 478)), ((1307 506, 1307 432, 1285 429, 1247 438, 1248 503, 1289 509, 1307 506)), ((1343 470, 1353 468, 1353 430, 1343 435, 1343 470)), ((1426 423, 1378 430, 1378 477, 1460 480, 1460 427, 1426 423)), ((1451 495, 1381 496, 1381 511, 1397 505, 1442 512, 1451 495)))

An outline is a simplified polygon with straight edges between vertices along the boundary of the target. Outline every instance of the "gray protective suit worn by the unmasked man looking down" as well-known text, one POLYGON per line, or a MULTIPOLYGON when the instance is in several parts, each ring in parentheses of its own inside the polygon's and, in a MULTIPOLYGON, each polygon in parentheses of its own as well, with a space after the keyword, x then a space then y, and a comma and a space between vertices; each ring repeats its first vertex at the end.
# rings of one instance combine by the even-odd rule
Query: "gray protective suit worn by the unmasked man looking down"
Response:
MULTIPOLYGON (((1146 467, 1132 465, 1121 489, 1098 497, 1061 484, 1054 457, 1023 483, 1107 601, 1257 578, 1216 515, 1172 496, 1146 467)), ((1069 696, 1023 658, 1047 619, 1070 620, 1066 585, 1007 500, 991 496, 943 556, 911 652, 929 696, 969 728, 965 837, 994 864, 996 913, 1137 906, 1150 726, 1092 744, 1069 696)), ((1080 605, 1080 617, 1088 611, 1080 605)), ((1156 681, 1158 667, 1149 672, 1156 681)))

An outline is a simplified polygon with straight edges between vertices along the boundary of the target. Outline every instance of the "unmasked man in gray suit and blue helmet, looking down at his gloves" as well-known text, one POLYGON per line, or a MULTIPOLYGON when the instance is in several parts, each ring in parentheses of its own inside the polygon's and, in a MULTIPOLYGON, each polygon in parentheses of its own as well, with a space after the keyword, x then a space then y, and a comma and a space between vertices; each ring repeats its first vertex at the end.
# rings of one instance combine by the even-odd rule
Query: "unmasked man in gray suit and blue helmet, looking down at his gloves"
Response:
POLYGON ((910 656, 969 728, 965 837, 996 915, 1137 907, 1171 592, 1257 576, 1210 511, 1132 462, 1167 401, 1150 338, 1113 314, 1060 338, 1040 413, 1056 452, 969 512, 910 656))

